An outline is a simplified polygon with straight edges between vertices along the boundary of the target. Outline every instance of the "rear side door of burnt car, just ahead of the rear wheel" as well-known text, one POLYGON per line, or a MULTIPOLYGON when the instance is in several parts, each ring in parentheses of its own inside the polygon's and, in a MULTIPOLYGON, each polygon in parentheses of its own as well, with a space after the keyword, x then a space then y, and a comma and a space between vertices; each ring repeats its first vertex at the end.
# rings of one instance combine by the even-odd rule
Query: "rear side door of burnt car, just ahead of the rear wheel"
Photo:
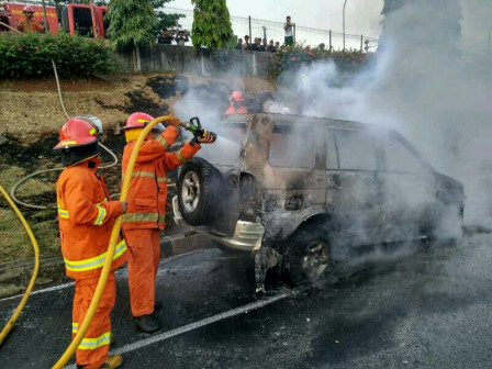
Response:
POLYGON ((327 206, 350 244, 380 241, 387 202, 380 158, 369 130, 327 128, 327 206))

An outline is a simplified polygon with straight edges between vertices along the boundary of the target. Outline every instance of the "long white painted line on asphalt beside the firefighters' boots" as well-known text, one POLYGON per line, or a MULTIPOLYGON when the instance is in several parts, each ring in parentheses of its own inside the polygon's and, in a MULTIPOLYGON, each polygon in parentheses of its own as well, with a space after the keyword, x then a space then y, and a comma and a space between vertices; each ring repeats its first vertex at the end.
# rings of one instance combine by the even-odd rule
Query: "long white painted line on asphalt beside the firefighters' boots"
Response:
MULTIPOLYGON (((180 334, 201 328, 201 327, 203 327, 205 325, 209 325, 209 324, 212 324, 212 323, 216 323, 216 322, 226 320, 226 318, 232 317, 232 316, 241 315, 241 314, 247 313, 247 312, 249 312, 251 310, 264 308, 264 306, 269 305, 269 304, 271 304, 273 302, 283 300, 283 299, 288 298, 289 295, 290 294, 282 292, 282 293, 276 294, 273 297, 270 297, 270 298, 257 301, 257 302, 253 302, 253 303, 249 303, 247 305, 226 311, 224 313, 220 313, 217 315, 205 317, 205 318, 203 318, 201 321, 183 325, 183 326, 181 326, 179 328, 175 328, 175 329, 171 329, 171 331, 168 331, 168 332, 164 332, 164 333, 157 334, 155 336, 152 336, 149 338, 137 340, 137 342, 135 342, 133 344, 128 344, 126 346, 123 346, 122 348, 119 348, 119 349, 115 349, 115 350, 111 351, 110 355, 126 354, 126 353, 130 353, 130 351, 134 351, 136 349, 141 349, 143 347, 156 344, 158 342, 172 338, 172 337, 178 336, 180 334)), ((67 366, 65 368, 76 369, 76 365, 67 366)))

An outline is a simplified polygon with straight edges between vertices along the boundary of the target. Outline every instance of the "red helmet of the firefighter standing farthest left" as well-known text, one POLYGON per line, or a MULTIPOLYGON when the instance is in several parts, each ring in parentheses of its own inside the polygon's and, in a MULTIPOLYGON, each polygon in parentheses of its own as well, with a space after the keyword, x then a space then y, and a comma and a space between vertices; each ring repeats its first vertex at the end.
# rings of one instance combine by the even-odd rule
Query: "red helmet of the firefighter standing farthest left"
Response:
POLYGON ((59 143, 54 148, 85 146, 98 141, 98 130, 90 123, 71 118, 59 131, 59 143))

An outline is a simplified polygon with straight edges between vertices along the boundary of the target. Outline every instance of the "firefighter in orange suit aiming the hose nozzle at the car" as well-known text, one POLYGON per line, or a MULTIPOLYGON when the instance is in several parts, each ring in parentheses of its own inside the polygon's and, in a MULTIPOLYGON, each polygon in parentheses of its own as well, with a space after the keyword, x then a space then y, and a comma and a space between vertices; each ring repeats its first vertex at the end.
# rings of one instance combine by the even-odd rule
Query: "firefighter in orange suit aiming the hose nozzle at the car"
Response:
MULTIPOLYGON (((123 179, 135 142, 145 125, 154 118, 145 113, 133 113, 122 131, 127 145, 123 152, 123 179)), ((153 333, 159 329, 154 315, 155 279, 160 259, 159 231, 165 226, 167 197, 166 171, 189 160, 200 149, 199 143, 212 143, 206 134, 198 142, 186 144, 181 149, 169 153, 179 136, 179 120, 172 118, 168 126, 157 125, 142 145, 128 192, 128 212, 123 215, 122 228, 128 244, 128 283, 132 315, 138 329, 153 333)))

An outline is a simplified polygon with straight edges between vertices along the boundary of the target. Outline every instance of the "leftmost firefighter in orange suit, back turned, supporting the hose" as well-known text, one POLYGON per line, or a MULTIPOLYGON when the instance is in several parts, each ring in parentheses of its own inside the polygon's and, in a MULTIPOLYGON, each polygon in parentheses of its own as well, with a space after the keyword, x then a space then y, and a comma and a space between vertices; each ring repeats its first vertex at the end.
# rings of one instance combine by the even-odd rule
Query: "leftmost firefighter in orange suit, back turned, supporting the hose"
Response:
MULTIPOLYGON (((59 132, 55 149, 62 152, 65 167, 56 182, 62 254, 68 277, 75 279, 72 337, 77 334, 96 286, 110 242, 114 219, 126 212, 126 203, 110 201, 103 179, 97 175, 97 130, 80 119, 70 119, 59 132)), ((128 258, 124 241, 116 245, 101 302, 82 342, 77 348, 78 368, 118 368, 121 355, 108 356, 111 335, 110 313, 116 298, 114 269, 128 258)))

